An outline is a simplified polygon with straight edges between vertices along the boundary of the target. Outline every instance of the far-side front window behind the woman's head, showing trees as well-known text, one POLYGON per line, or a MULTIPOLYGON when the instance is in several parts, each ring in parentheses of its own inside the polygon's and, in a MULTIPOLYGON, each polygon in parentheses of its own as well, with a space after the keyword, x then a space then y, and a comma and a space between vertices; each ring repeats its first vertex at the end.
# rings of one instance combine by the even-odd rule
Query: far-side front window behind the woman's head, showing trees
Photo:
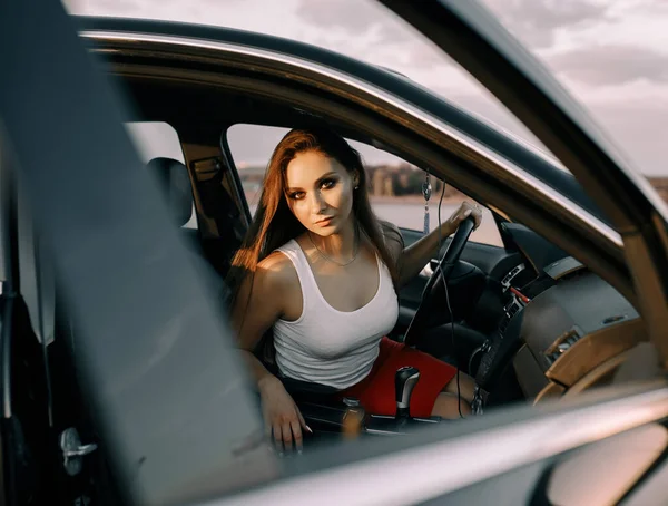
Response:
MULTIPOLYGON (((227 130, 227 143, 239 173, 244 194, 255 213, 262 191, 262 182, 272 153, 278 142, 288 132, 287 128, 258 125, 235 125, 227 130)), ((372 207, 381 220, 394 223, 401 228, 422 231, 424 226, 424 197, 422 184, 424 171, 390 153, 366 144, 348 140, 362 155, 366 169, 366 179, 372 207)), ((431 177, 432 196, 430 198, 430 227, 439 224, 439 200, 442 183, 431 177)), ((469 198, 456 188, 448 185, 441 204, 441 220, 445 221, 452 212, 469 198)), ((471 240, 501 246, 499 228, 489 210, 483 207, 483 223, 473 232, 471 240)))

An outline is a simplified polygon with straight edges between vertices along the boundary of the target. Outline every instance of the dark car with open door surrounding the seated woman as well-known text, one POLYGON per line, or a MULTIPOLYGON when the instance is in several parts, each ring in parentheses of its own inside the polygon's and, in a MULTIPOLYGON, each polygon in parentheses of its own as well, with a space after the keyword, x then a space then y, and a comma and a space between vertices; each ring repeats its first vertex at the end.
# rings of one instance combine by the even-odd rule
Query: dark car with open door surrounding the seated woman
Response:
POLYGON ((0 4, 7 504, 666 503, 666 204, 475 2, 382 3, 568 171, 332 51, 0 4), (173 127, 183 163, 145 166, 134 121, 173 127), (354 403, 294 385, 316 434, 303 455, 272 449, 225 305, 256 188, 239 124, 327 125, 490 210, 502 245, 460 227, 392 333, 473 374, 480 416, 370 416, 351 435, 354 403))

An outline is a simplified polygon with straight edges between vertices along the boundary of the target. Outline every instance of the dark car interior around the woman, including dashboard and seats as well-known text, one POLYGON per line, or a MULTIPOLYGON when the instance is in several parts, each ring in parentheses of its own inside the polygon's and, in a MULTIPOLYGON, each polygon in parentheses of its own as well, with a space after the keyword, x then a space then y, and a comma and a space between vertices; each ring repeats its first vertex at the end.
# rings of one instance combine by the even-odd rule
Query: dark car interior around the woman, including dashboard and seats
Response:
MULTIPOLYGON (((165 121, 178 133, 186 164, 160 158, 148 166, 158 175, 194 262, 206 279, 215 279, 222 311, 227 310, 225 275, 250 220, 226 132, 237 124, 285 128, 324 124, 348 139, 379 146, 351 125, 278 100, 143 79, 128 79, 124 86, 137 106, 136 117, 129 119, 165 121), (168 106, 174 103, 188 107, 168 106), (193 204, 197 230, 183 226, 193 204)), ((411 159, 401 145, 384 147, 411 159)), ((485 409, 572 396, 611 381, 625 353, 646 339, 632 305, 527 226, 497 212, 493 217, 503 247, 466 241, 465 231, 445 240, 440 257, 401 290, 400 318, 390 337, 474 377, 485 409), (439 282, 442 276, 448 291, 439 282)), ((402 230, 402 235, 410 245, 421 232, 402 230)), ((275 371, 267 342, 271 346, 271 337, 258 356, 275 371)), ((354 400, 342 401, 328 387, 285 382, 316 432, 341 432, 351 407, 345 401, 354 400)), ((372 426, 367 420, 364 432, 373 434, 372 426)), ((406 420, 383 420, 382 427, 383 432, 402 432, 406 420)))

